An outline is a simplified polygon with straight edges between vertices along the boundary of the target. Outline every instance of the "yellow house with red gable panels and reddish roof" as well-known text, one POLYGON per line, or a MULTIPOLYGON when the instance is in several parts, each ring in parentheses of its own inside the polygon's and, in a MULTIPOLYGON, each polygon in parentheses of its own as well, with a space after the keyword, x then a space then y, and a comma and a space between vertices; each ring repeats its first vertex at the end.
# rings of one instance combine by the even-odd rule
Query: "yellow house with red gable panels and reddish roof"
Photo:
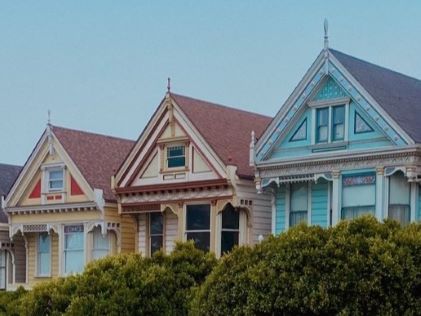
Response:
POLYGON ((47 126, 4 203, 10 238, 25 244, 25 276, 14 286, 78 273, 91 260, 134 250, 134 222, 119 216, 110 188, 133 144, 47 126))

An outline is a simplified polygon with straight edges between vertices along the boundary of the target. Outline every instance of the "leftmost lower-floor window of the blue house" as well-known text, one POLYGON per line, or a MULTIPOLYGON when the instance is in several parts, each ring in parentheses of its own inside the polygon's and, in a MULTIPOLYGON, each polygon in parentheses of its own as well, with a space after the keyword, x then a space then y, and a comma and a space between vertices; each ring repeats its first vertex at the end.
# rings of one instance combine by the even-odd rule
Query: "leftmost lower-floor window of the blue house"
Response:
POLYGON ((308 183, 291 184, 289 226, 307 223, 308 217, 308 183))

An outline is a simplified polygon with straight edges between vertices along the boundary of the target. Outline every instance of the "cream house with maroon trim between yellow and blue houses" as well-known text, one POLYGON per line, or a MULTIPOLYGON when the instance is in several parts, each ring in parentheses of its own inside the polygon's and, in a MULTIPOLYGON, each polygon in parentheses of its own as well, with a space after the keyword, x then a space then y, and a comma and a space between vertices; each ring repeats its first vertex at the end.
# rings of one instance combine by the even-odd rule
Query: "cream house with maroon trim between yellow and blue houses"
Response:
POLYGON ((256 193, 248 154, 270 120, 168 92, 112 181, 137 251, 194 240, 220 256, 270 234, 270 196, 256 193))

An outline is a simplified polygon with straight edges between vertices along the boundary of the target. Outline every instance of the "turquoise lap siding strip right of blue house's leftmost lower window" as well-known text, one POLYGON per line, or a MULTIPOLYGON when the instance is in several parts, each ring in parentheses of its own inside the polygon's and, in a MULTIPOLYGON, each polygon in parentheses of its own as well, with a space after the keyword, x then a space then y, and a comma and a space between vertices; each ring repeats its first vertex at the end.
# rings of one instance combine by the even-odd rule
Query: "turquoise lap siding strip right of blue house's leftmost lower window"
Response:
POLYGON ((311 224, 327 227, 328 185, 325 183, 311 186, 311 224))

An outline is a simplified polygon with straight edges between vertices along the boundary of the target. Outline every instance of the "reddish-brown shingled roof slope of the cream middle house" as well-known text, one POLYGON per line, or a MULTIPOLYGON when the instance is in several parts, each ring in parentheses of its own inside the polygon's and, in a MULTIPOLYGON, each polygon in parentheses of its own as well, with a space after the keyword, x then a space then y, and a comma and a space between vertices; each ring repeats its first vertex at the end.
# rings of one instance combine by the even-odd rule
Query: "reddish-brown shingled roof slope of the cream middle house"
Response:
POLYGON ((271 117, 174 93, 171 96, 226 165, 236 165, 240 177, 254 176, 249 166, 251 132, 259 138, 271 117))

